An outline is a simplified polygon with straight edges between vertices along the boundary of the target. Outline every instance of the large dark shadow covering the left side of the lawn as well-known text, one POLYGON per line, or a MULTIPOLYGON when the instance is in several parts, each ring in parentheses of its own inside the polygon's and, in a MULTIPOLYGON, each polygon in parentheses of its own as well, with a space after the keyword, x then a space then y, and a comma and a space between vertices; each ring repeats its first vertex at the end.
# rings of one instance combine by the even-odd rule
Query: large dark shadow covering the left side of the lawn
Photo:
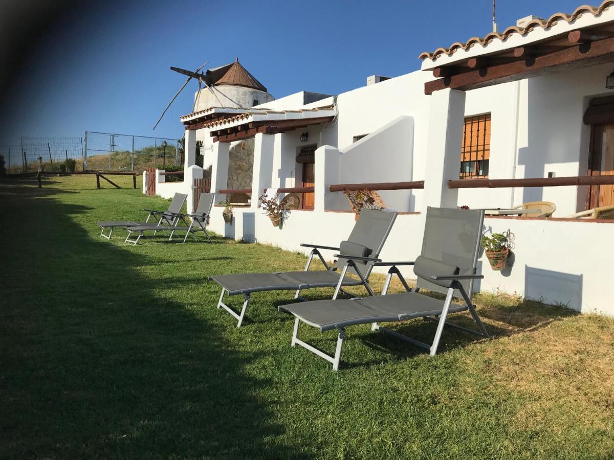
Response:
POLYGON ((2 223, 49 223, 5 227, 0 456, 304 458, 274 443, 258 354, 157 295, 147 255, 91 239, 71 217, 87 208, 53 192, 0 190, 2 223))

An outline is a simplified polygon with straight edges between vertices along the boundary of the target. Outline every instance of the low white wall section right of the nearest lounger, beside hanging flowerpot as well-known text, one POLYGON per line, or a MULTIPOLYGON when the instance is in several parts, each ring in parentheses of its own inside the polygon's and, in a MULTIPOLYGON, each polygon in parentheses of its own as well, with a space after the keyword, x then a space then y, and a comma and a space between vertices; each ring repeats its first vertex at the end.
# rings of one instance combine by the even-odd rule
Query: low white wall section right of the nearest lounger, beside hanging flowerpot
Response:
POLYGON ((550 304, 561 304, 583 313, 614 315, 612 275, 614 257, 612 223, 570 222, 548 219, 486 218, 488 232, 511 229, 513 265, 502 272, 490 269, 481 257, 482 291, 518 293, 550 304))

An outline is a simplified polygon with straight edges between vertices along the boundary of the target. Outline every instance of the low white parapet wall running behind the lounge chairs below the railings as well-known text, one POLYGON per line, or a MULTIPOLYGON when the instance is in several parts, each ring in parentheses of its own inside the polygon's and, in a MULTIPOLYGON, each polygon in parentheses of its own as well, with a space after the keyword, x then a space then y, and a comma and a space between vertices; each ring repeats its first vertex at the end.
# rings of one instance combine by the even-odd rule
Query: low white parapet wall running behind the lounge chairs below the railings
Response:
MULTIPOLYGON (((222 208, 214 207, 213 231, 230 238, 257 241, 285 250, 308 253, 300 243, 336 246, 348 239, 354 226, 350 212, 289 212, 282 227, 274 227, 260 209, 235 208, 233 223, 225 224, 222 208)), ((508 266, 501 272, 491 269, 484 254, 480 270, 484 275, 476 290, 516 293, 547 304, 565 305, 583 313, 614 315, 612 293, 608 289, 614 260, 611 223, 530 218, 486 218, 484 232, 510 229, 515 247, 508 266), (595 249, 596 242, 599 250, 595 249)), ((424 232, 424 214, 400 214, 381 252, 384 260, 413 261, 419 255, 424 232)), ((323 251, 332 260, 334 251, 323 251)), ((316 263, 316 262, 314 262, 316 263)), ((411 267, 400 267, 415 278, 411 267)), ((266 267, 262 267, 266 271, 266 267)), ((378 269, 385 273, 387 269, 378 269)))

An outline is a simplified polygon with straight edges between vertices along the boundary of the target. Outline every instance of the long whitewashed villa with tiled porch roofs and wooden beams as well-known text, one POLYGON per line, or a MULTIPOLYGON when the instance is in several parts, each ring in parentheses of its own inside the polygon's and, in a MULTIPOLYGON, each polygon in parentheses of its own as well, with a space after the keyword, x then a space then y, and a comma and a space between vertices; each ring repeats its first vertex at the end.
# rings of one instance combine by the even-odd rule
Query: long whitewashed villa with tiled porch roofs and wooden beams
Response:
POLYGON ((211 167, 216 201, 232 193, 228 189, 247 189, 252 197, 235 207, 231 224, 216 207, 211 228, 301 250, 301 242, 338 243, 351 231, 348 201, 330 186, 370 184, 381 190, 386 207, 400 213, 381 253, 388 260, 419 254, 428 206, 497 209, 553 202, 550 218, 486 218, 486 232, 510 229, 513 255, 502 272, 491 270, 483 256, 485 278, 477 288, 614 315, 607 289, 614 220, 565 218, 614 205, 614 93, 606 88, 614 69, 614 1, 548 20, 525 18, 503 33, 420 57, 421 71, 372 78, 373 84, 336 97, 300 92, 249 109, 199 102, 200 110, 181 117, 185 182, 157 183, 157 193, 191 190, 193 178, 203 174, 193 166, 196 140, 203 140, 203 167, 211 167), (236 183, 232 149, 248 139, 254 151, 247 165, 251 183, 230 186, 229 180, 236 183), (519 181, 527 178, 538 186, 519 181), (413 188, 421 181, 424 188, 413 188), (400 182, 406 184, 390 187, 400 182), (572 185, 551 186, 557 183, 572 185), (311 185, 313 194, 297 191, 303 209, 289 212, 282 228, 257 207, 265 188, 311 185))

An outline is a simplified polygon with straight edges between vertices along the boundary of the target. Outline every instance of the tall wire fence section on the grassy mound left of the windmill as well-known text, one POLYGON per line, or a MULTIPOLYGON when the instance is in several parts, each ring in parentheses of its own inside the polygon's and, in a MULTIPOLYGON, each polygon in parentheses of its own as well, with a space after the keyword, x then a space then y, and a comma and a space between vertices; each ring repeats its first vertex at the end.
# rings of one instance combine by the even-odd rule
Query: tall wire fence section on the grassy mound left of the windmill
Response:
POLYGON ((183 164, 182 140, 86 131, 85 168, 90 171, 171 169, 183 164))

